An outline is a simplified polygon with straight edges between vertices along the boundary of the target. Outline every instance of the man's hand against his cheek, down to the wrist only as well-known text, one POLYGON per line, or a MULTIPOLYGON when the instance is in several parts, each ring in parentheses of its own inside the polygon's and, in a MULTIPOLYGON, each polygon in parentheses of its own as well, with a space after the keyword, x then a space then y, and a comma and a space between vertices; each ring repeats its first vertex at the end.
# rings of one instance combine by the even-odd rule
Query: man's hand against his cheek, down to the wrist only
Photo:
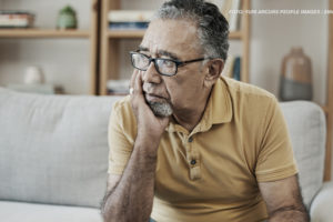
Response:
POLYGON ((139 138, 149 137, 150 140, 160 142, 161 135, 169 124, 169 118, 155 117, 147 104, 142 91, 142 72, 134 70, 131 79, 131 103, 138 122, 139 138))

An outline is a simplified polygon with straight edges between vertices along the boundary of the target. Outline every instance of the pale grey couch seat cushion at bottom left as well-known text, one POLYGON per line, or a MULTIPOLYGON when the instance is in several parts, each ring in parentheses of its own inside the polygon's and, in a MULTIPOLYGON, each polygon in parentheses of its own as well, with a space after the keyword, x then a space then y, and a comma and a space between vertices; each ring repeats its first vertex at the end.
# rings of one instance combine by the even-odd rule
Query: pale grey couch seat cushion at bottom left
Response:
POLYGON ((0 201, 0 209, 6 222, 102 222, 100 211, 92 208, 0 201))

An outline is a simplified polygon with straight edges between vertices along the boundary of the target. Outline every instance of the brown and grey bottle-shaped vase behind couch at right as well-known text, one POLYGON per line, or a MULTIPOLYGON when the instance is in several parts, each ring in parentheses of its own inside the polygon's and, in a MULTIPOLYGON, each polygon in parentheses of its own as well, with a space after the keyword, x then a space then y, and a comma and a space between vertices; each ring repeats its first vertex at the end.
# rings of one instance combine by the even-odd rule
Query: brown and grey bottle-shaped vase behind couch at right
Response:
POLYGON ((280 79, 280 99, 312 100, 311 59, 300 47, 292 48, 283 58, 280 79))

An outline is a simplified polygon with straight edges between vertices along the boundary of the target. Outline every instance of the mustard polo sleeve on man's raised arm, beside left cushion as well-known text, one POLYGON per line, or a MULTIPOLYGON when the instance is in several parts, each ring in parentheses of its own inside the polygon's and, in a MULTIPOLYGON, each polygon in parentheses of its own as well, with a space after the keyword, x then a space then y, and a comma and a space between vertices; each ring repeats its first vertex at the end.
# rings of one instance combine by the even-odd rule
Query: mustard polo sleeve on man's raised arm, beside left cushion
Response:
POLYGON ((122 174, 133 150, 133 133, 127 125, 132 125, 123 102, 115 102, 109 118, 109 170, 111 174, 122 174))

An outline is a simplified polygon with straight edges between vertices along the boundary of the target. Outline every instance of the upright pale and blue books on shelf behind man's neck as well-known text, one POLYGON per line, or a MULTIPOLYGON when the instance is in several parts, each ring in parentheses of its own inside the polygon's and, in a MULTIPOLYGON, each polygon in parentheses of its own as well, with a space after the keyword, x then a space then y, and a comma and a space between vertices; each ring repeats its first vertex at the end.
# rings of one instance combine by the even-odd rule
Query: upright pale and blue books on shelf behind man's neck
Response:
POLYGON ((241 57, 229 56, 222 75, 241 81, 241 57))

